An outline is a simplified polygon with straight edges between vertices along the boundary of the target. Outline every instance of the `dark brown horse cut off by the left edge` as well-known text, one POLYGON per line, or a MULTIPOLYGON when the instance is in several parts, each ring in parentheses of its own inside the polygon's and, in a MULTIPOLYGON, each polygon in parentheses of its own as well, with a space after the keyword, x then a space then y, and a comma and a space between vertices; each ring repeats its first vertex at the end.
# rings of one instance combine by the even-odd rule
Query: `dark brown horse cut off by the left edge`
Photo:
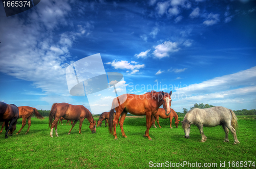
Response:
POLYGON ((18 120, 18 107, 14 104, 6 104, 0 102, 0 122, 5 122, 5 138, 12 135, 13 131, 16 129, 16 124, 18 120), (8 122, 10 124, 8 125, 8 122))

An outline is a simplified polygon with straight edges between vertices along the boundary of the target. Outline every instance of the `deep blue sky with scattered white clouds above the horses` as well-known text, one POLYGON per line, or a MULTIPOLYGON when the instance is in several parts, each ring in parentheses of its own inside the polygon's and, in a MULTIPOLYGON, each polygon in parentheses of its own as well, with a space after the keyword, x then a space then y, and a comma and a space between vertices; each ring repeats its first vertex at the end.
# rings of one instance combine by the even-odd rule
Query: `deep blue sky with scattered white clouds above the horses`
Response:
POLYGON ((65 70, 100 53, 127 93, 172 90, 176 111, 256 108, 255 1, 41 1, 9 17, 1 4, 0 25, 0 101, 8 104, 90 109, 87 97, 69 94, 65 70))

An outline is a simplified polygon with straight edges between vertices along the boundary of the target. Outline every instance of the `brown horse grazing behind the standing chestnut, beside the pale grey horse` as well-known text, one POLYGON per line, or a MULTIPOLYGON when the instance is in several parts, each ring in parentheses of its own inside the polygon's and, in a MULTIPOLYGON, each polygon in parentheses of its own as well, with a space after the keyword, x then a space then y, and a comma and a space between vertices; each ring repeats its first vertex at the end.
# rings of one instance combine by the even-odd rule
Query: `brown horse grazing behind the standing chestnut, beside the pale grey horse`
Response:
POLYGON ((171 108, 171 109, 170 109, 170 114, 169 114, 169 116, 166 116, 164 109, 163 109, 163 108, 159 108, 158 111, 157 111, 157 113, 154 115, 154 119, 153 119, 153 125, 154 125, 155 128, 157 128, 156 125, 155 125, 156 120, 157 120, 158 126, 159 126, 160 128, 162 128, 162 127, 160 126, 160 124, 159 124, 159 117, 162 118, 162 119, 167 119, 167 118, 169 118, 169 119, 170 119, 170 128, 173 128, 173 127, 172 127, 172 121, 173 121, 173 117, 174 117, 174 118, 175 118, 175 125, 176 125, 176 128, 178 128, 178 125, 179 125, 179 120, 178 120, 178 118, 179 118, 179 117, 178 117, 177 113, 174 111, 174 109, 171 108))

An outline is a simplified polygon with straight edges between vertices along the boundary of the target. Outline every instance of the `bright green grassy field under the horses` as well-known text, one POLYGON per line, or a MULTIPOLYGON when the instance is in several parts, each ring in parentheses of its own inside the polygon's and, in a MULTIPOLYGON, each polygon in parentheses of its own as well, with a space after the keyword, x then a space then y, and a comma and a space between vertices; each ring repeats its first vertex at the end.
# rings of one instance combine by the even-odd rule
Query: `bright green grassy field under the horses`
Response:
MULTIPOLYGON (((220 168, 220 162, 225 162, 225 168, 241 168, 232 167, 231 162, 256 161, 256 117, 238 118, 238 145, 233 145, 230 132, 230 142, 223 142, 225 133, 221 126, 204 127, 208 140, 200 143, 201 135, 196 126, 191 126, 190 138, 186 139, 181 123, 175 128, 173 121, 174 128, 170 129, 169 120, 160 118, 162 129, 157 123, 157 129, 150 129, 153 141, 143 137, 146 130, 145 118, 125 119, 123 127, 128 138, 122 137, 118 126, 118 140, 114 140, 104 123, 92 134, 87 120, 82 125, 82 134, 78 133, 77 123, 68 135, 71 126, 66 126, 66 121, 63 121, 63 126, 58 126, 59 137, 54 132, 51 138, 48 119, 40 121, 33 118, 26 135, 28 125, 19 135, 9 136, 8 139, 4 138, 4 133, 0 134, 0 168, 152 168, 150 165, 154 163, 155 166, 164 163, 166 168, 166 161, 168 164, 197 162, 202 164, 201 168, 220 168), (204 163, 208 166, 217 163, 217 167, 204 167, 204 163)), ((181 121, 182 119, 180 118, 181 121)), ((22 120, 19 119, 14 133, 21 124, 22 120)), ((176 168, 192 167, 182 165, 176 168)), ((255 167, 251 165, 250 168, 255 167)))

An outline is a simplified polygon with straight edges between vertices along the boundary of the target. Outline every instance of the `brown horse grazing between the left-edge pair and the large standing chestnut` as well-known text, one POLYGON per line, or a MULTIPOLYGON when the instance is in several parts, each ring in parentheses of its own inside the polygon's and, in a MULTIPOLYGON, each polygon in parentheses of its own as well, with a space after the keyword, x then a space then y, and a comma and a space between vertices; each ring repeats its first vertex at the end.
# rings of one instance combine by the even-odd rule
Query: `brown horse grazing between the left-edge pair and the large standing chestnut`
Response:
MULTIPOLYGON (((72 128, 79 120, 79 134, 81 134, 82 122, 85 118, 87 118, 87 120, 90 122, 89 128, 91 129, 92 133, 96 132, 96 123, 93 119, 91 112, 86 107, 84 107, 83 105, 72 105, 69 103, 54 103, 52 105, 52 109, 49 115, 49 128, 51 127, 51 137, 53 137, 53 127, 55 127, 55 135, 58 136, 57 124, 61 117, 67 120, 74 120, 72 128)), ((70 134, 72 128, 70 129, 68 134, 70 134)))

